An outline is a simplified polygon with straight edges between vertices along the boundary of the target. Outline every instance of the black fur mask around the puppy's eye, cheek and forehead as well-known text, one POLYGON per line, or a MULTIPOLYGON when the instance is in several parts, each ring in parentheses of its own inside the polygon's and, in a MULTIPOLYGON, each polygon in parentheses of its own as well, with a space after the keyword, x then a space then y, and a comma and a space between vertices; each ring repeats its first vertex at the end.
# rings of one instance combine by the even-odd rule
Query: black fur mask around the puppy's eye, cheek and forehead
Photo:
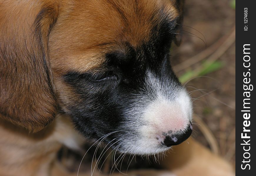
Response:
MULTIPOLYGON (((119 149, 122 151, 125 150, 123 141, 131 139, 131 136, 139 138, 137 128, 147 122, 140 116, 134 119, 133 114, 138 113, 134 106, 147 106, 148 101, 153 101, 158 93, 154 85, 149 85, 149 73, 169 87, 164 90, 168 97, 175 98, 174 92, 181 88, 181 84, 170 65, 169 50, 176 20, 160 21, 154 22, 156 25, 147 43, 133 47, 126 41, 122 50, 109 51, 102 65, 104 71, 94 70, 82 74, 69 72, 63 75, 64 82, 72 88, 76 97, 71 103, 63 102, 63 111, 72 117, 84 136, 99 139, 117 131, 105 141, 112 141, 113 148, 120 144, 119 149), (130 127, 132 121, 136 125, 130 127), (117 142, 119 139, 122 140, 117 142)), ((163 135, 167 136, 167 133, 163 135)))

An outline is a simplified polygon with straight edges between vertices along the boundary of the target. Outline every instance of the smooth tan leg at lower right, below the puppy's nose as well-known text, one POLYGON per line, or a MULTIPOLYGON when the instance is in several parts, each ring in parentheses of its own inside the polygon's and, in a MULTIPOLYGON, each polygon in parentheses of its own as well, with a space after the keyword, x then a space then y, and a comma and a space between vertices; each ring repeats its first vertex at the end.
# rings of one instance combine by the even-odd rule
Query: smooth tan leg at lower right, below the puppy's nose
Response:
POLYGON ((227 161, 214 155, 191 137, 184 143, 173 146, 173 150, 161 164, 177 176, 235 175, 232 166, 227 161))

